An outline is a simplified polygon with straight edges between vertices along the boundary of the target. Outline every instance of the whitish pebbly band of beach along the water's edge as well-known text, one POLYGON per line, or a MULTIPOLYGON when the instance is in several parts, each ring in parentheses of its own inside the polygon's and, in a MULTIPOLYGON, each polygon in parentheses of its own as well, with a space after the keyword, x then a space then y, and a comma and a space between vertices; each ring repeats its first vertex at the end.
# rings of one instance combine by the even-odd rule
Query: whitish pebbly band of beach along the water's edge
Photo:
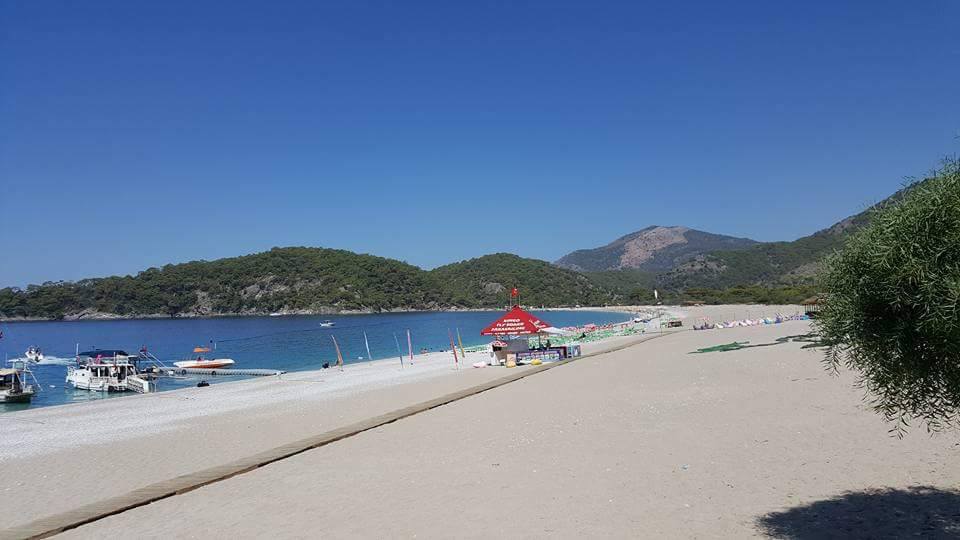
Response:
MULTIPOLYGON (((472 364, 488 358, 468 353, 472 364)), ((0 464, 83 445, 104 446, 130 438, 150 437, 196 418, 240 413, 265 404, 319 403, 363 391, 411 383, 456 372, 451 353, 417 355, 411 365, 399 359, 348 364, 340 371, 285 373, 150 395, 124 396, 0 415, 0 425, 32 426, 15 429, 0 439, 0 464)), ((461 364, 462 367, 462 364, 461 364)), ((466 368, 462 368, 466 369, 466 368)), ((472 368, 471 368, 472 369, 472 368)))

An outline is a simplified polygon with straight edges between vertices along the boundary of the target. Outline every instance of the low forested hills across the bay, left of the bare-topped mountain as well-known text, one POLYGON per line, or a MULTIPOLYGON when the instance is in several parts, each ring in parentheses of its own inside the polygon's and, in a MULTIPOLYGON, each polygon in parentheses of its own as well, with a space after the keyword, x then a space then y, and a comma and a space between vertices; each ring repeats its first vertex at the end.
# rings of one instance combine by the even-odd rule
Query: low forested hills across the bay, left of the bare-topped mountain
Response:
POLYGON ((599 304, 609 294, 545 261, 496 254, 425 271, 343 250, 289 247, 151 268, 135 276, 0 290, 0 318, 324 313, 599 304))

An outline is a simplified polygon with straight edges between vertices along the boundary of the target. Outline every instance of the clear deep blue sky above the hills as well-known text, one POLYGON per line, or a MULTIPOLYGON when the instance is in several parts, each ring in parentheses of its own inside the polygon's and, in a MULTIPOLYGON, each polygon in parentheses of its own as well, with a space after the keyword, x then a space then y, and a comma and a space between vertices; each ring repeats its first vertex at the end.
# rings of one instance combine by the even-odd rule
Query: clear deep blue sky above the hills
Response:
POLYGON ((960 151, 960 2, 0 2, 0 286, 790 240, 960 151))

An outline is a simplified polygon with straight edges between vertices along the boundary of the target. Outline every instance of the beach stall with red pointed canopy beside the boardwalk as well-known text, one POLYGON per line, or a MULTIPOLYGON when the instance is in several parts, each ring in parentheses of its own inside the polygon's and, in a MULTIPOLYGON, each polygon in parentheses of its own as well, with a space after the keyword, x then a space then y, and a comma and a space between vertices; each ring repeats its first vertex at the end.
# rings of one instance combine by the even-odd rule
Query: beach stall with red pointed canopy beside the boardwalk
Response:
POLYGON ((530 348, 530 336, 562 333, 547 322, 514 306, 505 315, 480 331, 481 336, 494 336, 492 365, 514 367, 517 362, 559 360, 567 355, 566 347, 530 348))

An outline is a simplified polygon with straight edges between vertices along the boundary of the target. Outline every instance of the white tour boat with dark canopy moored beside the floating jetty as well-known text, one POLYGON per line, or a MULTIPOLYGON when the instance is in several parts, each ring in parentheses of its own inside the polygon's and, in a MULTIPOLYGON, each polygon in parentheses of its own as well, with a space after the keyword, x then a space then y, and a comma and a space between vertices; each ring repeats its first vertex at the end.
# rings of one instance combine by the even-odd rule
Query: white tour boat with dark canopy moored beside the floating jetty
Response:
POLYGON ((131 356, 119 349, 95 349, 77 353, 76 365, 67 366, 67 384, 91 392, 156 390, 155 382, 140 377, 131 356))

